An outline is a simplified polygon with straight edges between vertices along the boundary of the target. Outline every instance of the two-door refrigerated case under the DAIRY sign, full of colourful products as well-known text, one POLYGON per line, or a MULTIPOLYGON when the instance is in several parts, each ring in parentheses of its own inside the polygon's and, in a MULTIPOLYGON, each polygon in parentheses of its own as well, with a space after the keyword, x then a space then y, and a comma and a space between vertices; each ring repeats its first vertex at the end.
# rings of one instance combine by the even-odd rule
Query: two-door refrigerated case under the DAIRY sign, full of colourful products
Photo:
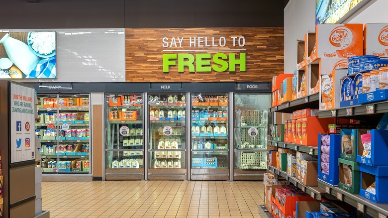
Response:
POLYGON ((90 174, 89 94, 37 97, 43 174, 90 174))

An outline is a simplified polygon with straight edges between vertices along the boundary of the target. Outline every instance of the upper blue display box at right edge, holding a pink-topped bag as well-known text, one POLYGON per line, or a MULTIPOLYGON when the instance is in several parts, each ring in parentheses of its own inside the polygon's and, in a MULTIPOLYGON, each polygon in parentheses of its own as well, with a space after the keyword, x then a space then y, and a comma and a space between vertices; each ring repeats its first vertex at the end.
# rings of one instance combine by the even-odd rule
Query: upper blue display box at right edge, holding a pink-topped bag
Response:
POLYGON ((371 157, 364 157, 364 146, 358 143, 356 161, 369 166, 388 166, 388 130, 372 129, 371 136, 371 157))

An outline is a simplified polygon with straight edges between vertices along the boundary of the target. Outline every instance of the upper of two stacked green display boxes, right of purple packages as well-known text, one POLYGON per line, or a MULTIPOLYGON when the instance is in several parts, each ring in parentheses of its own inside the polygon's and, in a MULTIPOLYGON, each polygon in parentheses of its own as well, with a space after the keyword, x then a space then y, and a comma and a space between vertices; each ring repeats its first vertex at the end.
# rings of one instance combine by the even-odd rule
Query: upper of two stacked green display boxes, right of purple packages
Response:
POLYGON ((364 148, 361 135, 366 134, 368 129, 341 129, 341 153, 340 158, 356 161, 358 148, 364 148))

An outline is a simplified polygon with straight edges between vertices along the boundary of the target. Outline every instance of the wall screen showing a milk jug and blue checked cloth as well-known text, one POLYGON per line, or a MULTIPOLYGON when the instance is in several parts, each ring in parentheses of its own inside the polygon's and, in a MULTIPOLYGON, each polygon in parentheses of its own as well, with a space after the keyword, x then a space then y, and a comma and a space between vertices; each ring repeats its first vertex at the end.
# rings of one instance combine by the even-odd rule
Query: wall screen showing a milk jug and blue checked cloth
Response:
POLYGON ((55 78, 55 32, 0 32, 0 79, 55 78))

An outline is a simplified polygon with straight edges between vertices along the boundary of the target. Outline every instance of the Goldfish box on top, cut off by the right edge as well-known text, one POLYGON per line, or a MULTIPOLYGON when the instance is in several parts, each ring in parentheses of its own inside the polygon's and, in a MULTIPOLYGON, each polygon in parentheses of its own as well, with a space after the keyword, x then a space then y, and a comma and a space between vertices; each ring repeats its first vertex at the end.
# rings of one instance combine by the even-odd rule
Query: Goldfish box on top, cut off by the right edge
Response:
POLYGON ((388 57, 388 23, 367 23, 364 28, 366 55, 388 57))

